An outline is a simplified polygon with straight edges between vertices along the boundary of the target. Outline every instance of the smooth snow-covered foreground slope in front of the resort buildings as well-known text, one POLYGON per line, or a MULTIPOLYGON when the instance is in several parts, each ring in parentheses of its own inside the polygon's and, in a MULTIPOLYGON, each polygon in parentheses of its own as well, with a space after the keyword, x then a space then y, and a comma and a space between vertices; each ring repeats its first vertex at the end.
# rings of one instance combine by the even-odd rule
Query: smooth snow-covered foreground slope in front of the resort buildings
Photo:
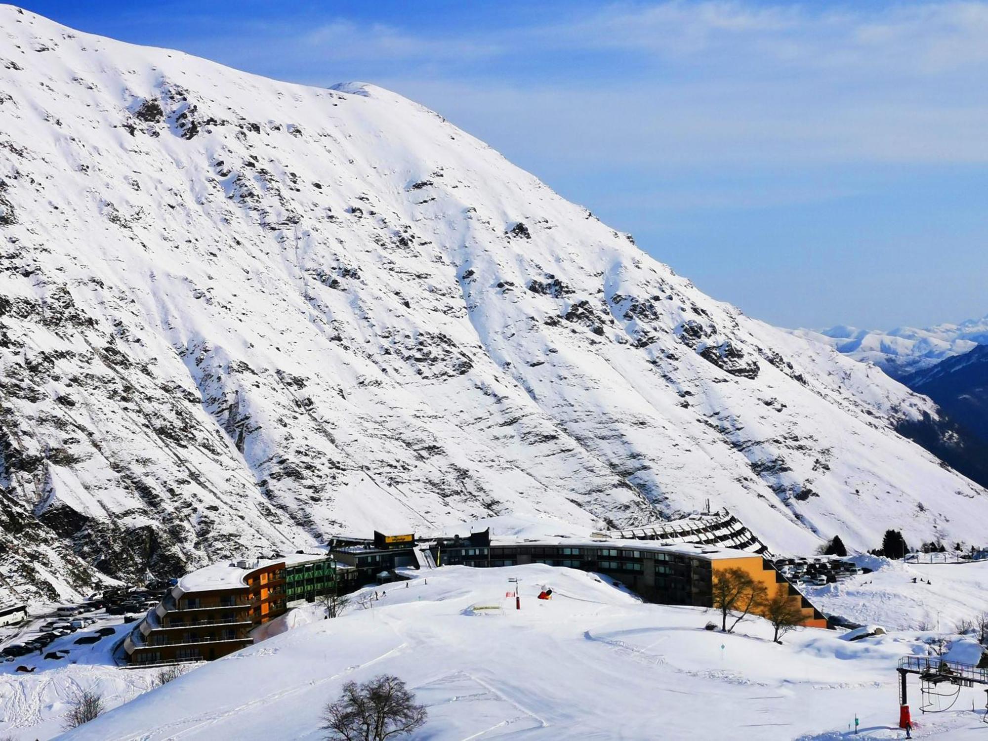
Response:
MULTIPOLYGON (((888 590, 908 599, 915 587, 907 581, 888 590)), ((378 587, 377 600, 373 593, 358 593, 363 607, 334 620, 319 619, 315 608, 302 611, 286 632, 200 665, 65 738, 314 741, 321 738, 320 708, 345 682, 384 672, 401 677, 428 705, 428 724, 416 738, 436 741, 822 741, 843 738, 856 713, 858 738, 901 738, 894 728, 896 661, 926 655, 933 637, 905 630, 850 642, 839 631, 800 628, 778 645, 760 618, 741 623, 735 634, 708 632, 703 625, 712 613, 643 604, 595 575, 541 565, 444 567, 407 586, 378 587), (521 611, 507 597, 509 577, 521 579, 521 611), (536 600, 545 585, 552 600, 536 600)), ((950 640, 951 658, 976 658, 970 640, 950 640)), ((58 700, 65 683, 84 681, 114 692, 116 703, 149 678, 83 665, 11 678, 5 688, 20 683, 25 701, 41 707, 13 714, 20 700, 5 689, 3 711, 15 723, 0 724, 0 734, 48 738, 64 711, 58 700), (39 715, 43 722, 32 723, 39 715)), ((915 681, 911 689, 918 716, 915 681)), ((952 711, 917 717, 917 737, 982 739, 985 726, 970 707, 972 700, 983 707, 983 693, 962 693, 952 711)))

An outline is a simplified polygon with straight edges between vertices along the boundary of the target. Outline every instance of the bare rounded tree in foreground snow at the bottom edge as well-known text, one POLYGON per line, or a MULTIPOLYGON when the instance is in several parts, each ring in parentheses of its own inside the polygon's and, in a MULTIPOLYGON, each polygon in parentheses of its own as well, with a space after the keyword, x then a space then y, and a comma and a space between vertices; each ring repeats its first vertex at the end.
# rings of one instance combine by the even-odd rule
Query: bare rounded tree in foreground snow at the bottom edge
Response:
POLYGON ((327 741, 384 741, 420 728, 426 715, 404 682, 381 674, 363 685, 344 685, 342 697, 323 710, 322 727, 329 731, 327 741))

